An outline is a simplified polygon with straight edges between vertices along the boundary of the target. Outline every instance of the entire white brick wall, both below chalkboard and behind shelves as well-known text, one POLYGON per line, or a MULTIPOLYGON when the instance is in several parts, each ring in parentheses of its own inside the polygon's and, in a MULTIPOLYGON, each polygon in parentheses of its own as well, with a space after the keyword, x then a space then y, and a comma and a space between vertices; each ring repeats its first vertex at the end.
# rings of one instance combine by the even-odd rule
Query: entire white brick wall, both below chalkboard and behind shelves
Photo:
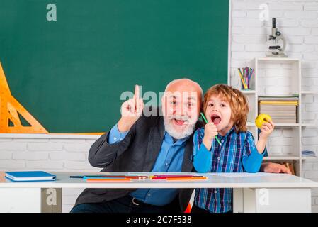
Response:
MULTIPOLYGON (((266 40, 271 33, 271 21, 259 21, 260 4, 267 3, 269 16, 276 17, 276 25, 288 42, 290 57, 302 59, 303 89, 318 91, 318 1, 317 0, 233 0, 231 35, 231 74, 237 75, 237 67, 249 66, 254 57, 264 57, 266 40)), ((263 74, 266 76, 266 74, 263 74)), ((234 79, 239 83, 239 79, 234 79)), ((278 80, 278 82, 280 82, 278 80)), ((268 87, 266 92, 275 92, 268 87)), ((318 118, 318 97, 306 96, 302 117, 308 121, 318 118)), ((290 131, 277 131, 271 135, 271 143, 278 138, 285 146, 275 147, 272 153, 288 153, 290 131), (283 137, 283 138, 282 138, 283 137)), ((302 132, 304 149, 318 152, 317 128, 305 128, 302 132)), ((95 139, 28 139, 0 138, 0 170, 48 170, 48 171, 99 171, 87 161, 89 148, 95 139)), ((271 145, 273 145, 271 144, 271 145)), ((318 161, 303 162, 304 177, 318 182, 318 161)), ((72 209, 82 189, 64 189, 63 212, 72 209)), ((312 190, 312 211, 318 212, 318 189, 312 190)))

